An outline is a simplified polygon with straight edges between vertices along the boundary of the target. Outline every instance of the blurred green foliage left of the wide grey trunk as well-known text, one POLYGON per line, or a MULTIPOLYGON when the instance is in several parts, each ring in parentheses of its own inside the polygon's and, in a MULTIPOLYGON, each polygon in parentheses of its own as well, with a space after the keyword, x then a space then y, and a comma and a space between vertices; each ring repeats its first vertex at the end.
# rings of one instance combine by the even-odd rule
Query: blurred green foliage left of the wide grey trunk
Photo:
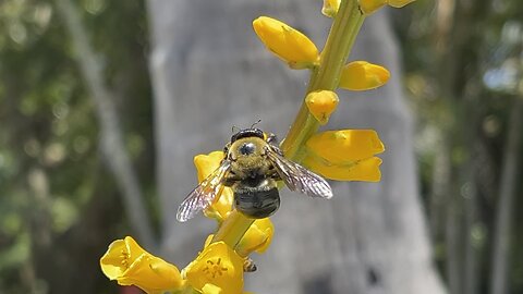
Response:
MULTIPOLYGON (((90 94, 53 5, 42 0, 0 2, 1 293, 72 292, 58 285, 59 280, 80 273, 71 270, 64 277, 68 270, 60 258, 71 265, 93 260, 87 262, 93 275, 99 254, 114 233, 121 234, 124 221, 98 152, 90 94), (100 205, 109 209, 97 210, 100 205), (114 212, 98 215, 105 211, 114 212), (77 247, 58 253, 61 244, 77 247), (39 264, 42 260, 52 262, 39 264)), ((107 84, 117 94, 129 151, 150 197, 155 148, 144 5, 137 0, 78 3, 102 58, 107 84)), ((94 286, 92 282, 74 292, 100 292, 94 286)))

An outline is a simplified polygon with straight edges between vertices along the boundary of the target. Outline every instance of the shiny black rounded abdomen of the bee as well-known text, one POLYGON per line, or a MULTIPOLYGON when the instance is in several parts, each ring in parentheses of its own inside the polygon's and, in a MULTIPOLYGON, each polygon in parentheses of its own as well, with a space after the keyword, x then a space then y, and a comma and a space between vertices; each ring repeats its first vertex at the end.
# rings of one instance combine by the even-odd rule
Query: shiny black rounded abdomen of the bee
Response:
POLYGON ((242 181, 234 187, 234 206, 250 218, 267 218, 280 207, 278 187, 268 179, 242 181))

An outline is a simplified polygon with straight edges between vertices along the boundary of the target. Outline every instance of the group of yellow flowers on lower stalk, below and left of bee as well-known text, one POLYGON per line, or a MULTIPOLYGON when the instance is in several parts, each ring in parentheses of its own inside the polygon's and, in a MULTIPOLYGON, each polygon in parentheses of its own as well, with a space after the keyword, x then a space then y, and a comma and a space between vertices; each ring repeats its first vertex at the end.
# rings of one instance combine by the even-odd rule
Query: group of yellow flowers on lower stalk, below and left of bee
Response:
MULTIPOLYGON (((215 171, 223 159, 222 151, 194 158, 198 182, 215 171)), ((231 213, 232 191, 224 187, 221 196, 204 213, 220 226, 231 213)), ((181 272, 179 269, 144 250, 132 237, 117 240, 100 259, 102 272, 121 285, 136 285, 147 293, 242 293, 244 264, 252 253, 264 253, 270 245, 273 225, 259 219, 248 228, 232 249, 224 242, 207 237, 204 249, 181 272)))

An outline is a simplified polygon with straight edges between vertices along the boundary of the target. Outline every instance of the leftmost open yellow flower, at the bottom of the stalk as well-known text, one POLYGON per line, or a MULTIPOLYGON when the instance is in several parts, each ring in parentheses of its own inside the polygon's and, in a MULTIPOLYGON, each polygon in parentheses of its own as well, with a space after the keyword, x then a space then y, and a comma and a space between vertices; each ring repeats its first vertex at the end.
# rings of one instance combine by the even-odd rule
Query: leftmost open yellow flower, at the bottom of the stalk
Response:
POLYGON ((104 274, 120 285, 136 285, 146 293, 162 293, 183 285, 173 265, 144 250, 132 237, 117 240, 100 258, 104 274))

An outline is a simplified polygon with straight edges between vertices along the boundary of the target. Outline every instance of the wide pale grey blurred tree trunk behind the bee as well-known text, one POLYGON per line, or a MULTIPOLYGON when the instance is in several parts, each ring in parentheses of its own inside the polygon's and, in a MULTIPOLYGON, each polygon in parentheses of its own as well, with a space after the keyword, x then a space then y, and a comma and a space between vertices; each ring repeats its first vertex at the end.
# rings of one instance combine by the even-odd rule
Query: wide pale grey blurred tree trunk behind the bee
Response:
MULTIPOLYGON (((214 229, 205 218, 175 221, 178 205, 196 185, 193 156, 221 149, 231 126, 258 119, 260 128, 281 137, 303 99, 307 73, 289 70, 269 53, 252 21, 260 14, 281 19, 321 47, 330 21, 319 11, 318 1, 149 1, 162 248, 178 265, 190 261, 214 229)), ((377 130, 387 146, 382 180, 332 183, 330 201, 283 191, 272 218, 273 243, 254 257, 258 271, 246 275, 246 290, 445 292, 431 264, 400 57, 385 13, 367 19, 350 59, 385 64, 392 79, 378 90, 340 90, 328 128, 377 130)))

